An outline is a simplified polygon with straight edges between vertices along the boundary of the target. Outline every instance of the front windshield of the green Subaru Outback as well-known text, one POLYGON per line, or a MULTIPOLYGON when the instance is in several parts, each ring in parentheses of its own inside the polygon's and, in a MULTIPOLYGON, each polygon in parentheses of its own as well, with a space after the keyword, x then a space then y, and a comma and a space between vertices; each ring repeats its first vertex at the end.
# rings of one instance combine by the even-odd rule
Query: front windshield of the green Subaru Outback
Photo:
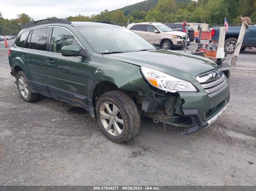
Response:
POLYGON ((124 27, 84 26, 75 28, 91 48, 99 54, 156 49, 147 40, 124 27))

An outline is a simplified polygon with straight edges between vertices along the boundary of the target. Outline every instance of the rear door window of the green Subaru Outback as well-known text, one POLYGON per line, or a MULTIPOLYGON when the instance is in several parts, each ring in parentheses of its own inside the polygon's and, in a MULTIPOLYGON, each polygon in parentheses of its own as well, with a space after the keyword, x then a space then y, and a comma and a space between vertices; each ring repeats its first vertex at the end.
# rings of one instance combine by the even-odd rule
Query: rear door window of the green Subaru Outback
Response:
POLYGON ((48 30, 49 27, 33 29, 30 40, 30 49, 46 51, 48 30))

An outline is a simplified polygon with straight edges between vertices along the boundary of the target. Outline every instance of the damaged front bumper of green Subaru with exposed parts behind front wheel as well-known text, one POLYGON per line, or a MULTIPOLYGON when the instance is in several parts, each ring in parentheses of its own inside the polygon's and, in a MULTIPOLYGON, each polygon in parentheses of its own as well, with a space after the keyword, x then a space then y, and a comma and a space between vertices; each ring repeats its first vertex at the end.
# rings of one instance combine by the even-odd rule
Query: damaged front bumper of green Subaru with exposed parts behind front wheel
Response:
MULTIPOLYGON (((193 83, 200 88, 200 84, 193 83)), ((154 123, 190 128, 182 135, 188 135, 207 128, 227 109, 229 86, 221 93, 209 97, 203 91, 166 92, 148 84, 151 91, 139 92, 136 102, 141 116, 153 119, 154 123)))

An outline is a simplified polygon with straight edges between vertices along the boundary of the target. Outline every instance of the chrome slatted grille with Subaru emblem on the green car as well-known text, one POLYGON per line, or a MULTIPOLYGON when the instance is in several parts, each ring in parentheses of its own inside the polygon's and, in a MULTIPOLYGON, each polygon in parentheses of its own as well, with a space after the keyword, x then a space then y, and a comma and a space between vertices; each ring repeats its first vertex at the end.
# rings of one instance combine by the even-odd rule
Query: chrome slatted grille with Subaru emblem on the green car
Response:
POLYGON ((217 94, 228 85, 221 69, 197 76, 196 80, 201 84, 209 96, 217 94))

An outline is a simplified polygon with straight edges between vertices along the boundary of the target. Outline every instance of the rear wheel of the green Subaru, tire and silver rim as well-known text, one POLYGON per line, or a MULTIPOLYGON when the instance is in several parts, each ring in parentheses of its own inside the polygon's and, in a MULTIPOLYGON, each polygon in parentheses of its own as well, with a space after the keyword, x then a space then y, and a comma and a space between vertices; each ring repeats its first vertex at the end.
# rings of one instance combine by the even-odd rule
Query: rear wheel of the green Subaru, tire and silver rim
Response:
POLYGON ((32 93, 31 88, 28 84, 28 78, 24 74, 24 72, 19 71, 16 76, 16 83, 18 87, 18 91, 22 99, 26 102, 37 101, 40 97, 40 94, 32 93), (21 87, 22 86, 22 87, 21 87))

